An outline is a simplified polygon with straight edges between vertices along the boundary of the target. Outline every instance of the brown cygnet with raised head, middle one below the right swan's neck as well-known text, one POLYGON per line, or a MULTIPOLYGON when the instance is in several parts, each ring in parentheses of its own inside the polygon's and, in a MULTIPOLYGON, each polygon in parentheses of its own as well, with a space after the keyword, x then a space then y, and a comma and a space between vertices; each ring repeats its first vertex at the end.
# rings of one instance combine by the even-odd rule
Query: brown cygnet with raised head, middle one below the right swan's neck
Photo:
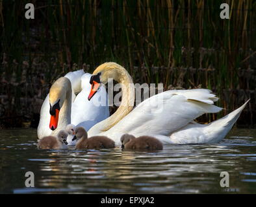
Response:
POLYGON ((75 136, 73 140, 76 140, 77 144, 75 149, 109 149, 114 148, 114 141, 107 138, 107 136, 92 136, 88 138, 88 135, 83 127, 75 128, 75 136))

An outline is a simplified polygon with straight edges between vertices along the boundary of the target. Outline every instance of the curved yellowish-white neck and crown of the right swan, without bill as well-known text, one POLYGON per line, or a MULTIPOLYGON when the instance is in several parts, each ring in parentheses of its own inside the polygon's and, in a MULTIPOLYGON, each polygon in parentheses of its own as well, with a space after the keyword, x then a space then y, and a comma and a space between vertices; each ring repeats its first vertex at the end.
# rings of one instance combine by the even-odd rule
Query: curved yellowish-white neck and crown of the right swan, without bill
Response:
POLYGON ((104 63, 100 65, 94 74, 102 72, 102 78, 107 82, 108 78, 113 78, 118 83, 121 83, 122 89, 122 102, 120 107, 112 116, 94 125, 89 131, 88 136, 94 136, 104 131, 109 130, 115 124, 117 124, 124 116, 126 116, 134 105, 134 84, 133 79, 129 73, 116 63, 104 63))

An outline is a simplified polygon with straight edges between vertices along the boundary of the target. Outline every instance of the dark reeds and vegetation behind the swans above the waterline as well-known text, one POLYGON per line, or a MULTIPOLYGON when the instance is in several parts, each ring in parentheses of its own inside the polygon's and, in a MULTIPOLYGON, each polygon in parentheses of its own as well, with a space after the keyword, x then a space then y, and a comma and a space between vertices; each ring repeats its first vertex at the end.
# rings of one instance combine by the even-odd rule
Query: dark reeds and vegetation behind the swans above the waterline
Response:
POLYGON ((256 124, 256 1, 1 0, 0 19, 1 127, 36 127, 54 80, 105 61, 137 83, 211 89, 227 110, 203 122, 251 98, 238 124, 256 124), (25 19, 26 3, 34 19, 25 19))

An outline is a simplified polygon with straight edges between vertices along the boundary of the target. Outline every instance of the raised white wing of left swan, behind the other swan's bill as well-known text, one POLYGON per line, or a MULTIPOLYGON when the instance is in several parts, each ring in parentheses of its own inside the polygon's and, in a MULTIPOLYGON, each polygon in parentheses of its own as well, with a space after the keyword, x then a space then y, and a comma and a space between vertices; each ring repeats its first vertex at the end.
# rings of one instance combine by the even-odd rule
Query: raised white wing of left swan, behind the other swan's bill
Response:
POLYGON ((94 100, 88 100, 90 94, 90 77, 92 74, 84 74, 81 78, 83 90, 77 94, 71 106, 71 124, 83 126, 86 131, 97 122, 109 117, 109 105, 107 91, 102 85, 94 95, 94 100))

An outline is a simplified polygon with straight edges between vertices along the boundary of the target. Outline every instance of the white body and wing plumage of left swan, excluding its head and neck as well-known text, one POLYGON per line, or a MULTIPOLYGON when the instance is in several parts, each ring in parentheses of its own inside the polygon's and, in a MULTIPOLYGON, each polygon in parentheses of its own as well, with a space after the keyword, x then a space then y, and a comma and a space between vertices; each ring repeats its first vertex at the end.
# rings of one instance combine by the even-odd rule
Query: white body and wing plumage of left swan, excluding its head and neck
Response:
MULTIPOLYGON (((102 98, 107 97, 107 91, 104 86, 101 86, 98 94, 95 95, 97 100, 101 100, 101 105, 95 105, 88 101, 87 97, 91 88, 90 76, 92 76, 92 74, 84 73, 83 70, 68 72, 68 74, 64 76, 70 80, 72 91, 72 103, 71 106, 69 106, 71 107, 71 114, 66 114, 66 116, 71 116, 71 123, 68 124, 83 126, 86 130, 89 130, 90 127, 97 124, 97 122, 109 117, 108 100, 107 98, 102 98), (77 96, 75 94, 77 94, 77 96)), ((53 134, 53 131, 49 129, 49 109, 49 94, 47 94, 40 111, 40 122, 37 131, 38 138, 53 134)), ((59 125, 58 130, 60 129, 66 129, 66 125, 59 125)))

